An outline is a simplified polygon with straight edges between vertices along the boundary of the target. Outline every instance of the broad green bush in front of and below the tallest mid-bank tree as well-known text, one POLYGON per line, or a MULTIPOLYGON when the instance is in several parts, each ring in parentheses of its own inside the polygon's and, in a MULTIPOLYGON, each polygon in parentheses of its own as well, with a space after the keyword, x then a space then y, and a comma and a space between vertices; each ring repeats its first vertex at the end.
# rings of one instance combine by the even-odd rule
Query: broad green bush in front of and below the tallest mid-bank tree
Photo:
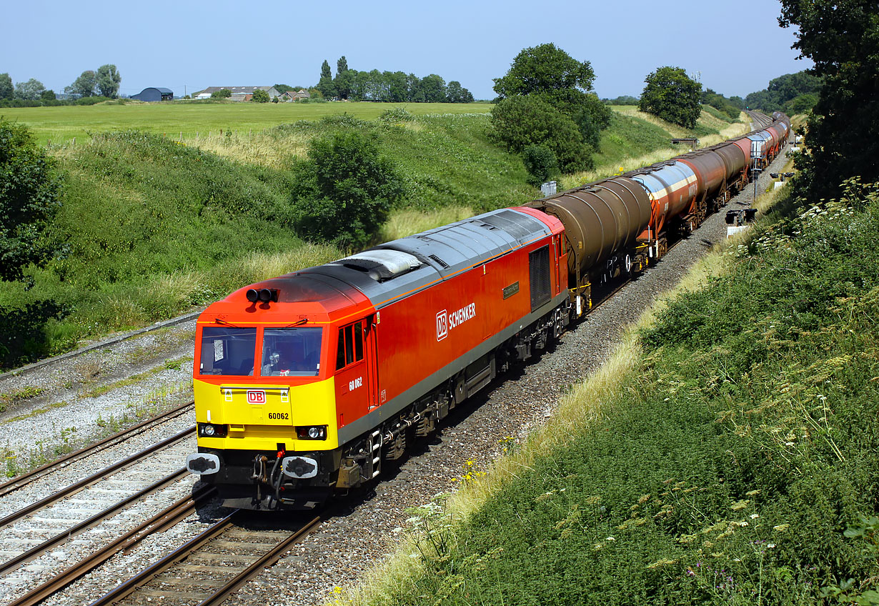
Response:
POLYGON ((539 96, 504 99, 491 110, 493 138, 515 153, 529 145, 552 150, 564 172, 592 168, 591 150, 577 124, 539 96))

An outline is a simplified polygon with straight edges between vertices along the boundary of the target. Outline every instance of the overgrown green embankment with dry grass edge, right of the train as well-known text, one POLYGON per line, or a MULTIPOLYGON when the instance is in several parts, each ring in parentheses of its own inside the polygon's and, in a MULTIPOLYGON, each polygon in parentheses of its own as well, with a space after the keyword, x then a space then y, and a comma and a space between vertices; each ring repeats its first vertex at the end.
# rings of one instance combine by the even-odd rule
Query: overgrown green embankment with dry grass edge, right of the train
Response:
POLYGON ((875 589, 879 188, 857 189, 796 213, 782 199, 787 218, 709 257, 699 288, 426 515, 411 555, 352 601, 799 604, 850 579, 849 597, 875 589))

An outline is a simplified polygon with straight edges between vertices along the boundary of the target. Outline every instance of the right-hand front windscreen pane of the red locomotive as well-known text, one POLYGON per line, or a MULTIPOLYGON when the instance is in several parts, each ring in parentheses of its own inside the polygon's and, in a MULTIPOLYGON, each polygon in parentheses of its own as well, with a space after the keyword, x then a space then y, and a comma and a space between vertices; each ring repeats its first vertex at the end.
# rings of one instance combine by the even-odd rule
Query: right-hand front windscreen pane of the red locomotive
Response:
POLYGON ((317 376, 323 328, 266 328, 260 376, 317 376))

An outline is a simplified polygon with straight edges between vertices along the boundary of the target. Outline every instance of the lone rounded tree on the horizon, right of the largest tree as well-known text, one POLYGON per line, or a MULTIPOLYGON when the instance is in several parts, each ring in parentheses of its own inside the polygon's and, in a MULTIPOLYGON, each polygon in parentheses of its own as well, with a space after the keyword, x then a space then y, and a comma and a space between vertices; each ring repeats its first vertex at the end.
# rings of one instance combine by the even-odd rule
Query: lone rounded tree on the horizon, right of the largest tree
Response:
POLYGON ((650 72, 644 82, 647 85, 638 104, 642 112, 684 128, 695 128, 701 113, 701 84, 687 77, 684 69, 670 66, 650 72))

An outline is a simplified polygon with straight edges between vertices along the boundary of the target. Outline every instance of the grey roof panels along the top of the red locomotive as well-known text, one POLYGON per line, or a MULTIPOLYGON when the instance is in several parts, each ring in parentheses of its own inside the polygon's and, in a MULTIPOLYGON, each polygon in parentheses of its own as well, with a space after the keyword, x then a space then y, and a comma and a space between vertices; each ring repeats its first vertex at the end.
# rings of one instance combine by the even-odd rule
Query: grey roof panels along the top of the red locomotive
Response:
POLYGON ((322 274, 351 284, 381 309, 550 233, 548 226, 533 216, 503 208, 310 267, 299 274, 322 274))

